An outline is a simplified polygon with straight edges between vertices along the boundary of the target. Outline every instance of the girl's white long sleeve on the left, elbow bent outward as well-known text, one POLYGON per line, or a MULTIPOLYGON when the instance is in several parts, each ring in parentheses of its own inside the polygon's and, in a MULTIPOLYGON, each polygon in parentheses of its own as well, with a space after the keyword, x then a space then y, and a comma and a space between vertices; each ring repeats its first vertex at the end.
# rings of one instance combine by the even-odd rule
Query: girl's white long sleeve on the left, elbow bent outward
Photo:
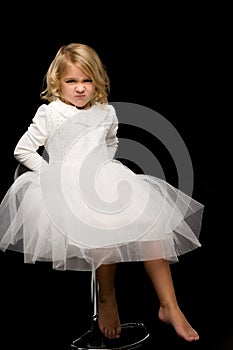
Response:
POLYGON ((46 113, 47 105, 41 105, 28 130, 18 141, 15 150, 15 158, 33 171, 39 171, 41 166, 47 165, 47 162, 37 152, 40 146, 43 146, 48 138, 48 115, 46 113))

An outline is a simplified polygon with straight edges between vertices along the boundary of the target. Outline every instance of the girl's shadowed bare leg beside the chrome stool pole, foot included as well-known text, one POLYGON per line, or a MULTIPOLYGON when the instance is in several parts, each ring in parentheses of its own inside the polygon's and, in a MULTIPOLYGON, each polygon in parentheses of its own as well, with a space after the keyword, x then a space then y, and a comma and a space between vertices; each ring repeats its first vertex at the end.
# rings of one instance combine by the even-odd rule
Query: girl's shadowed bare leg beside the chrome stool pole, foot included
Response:
POLYGON ((119 338, 121 324, 115 298, 114 278, 116 264, 102 265, 96 271, 99 283, 98 324, 109 339, 119 338))

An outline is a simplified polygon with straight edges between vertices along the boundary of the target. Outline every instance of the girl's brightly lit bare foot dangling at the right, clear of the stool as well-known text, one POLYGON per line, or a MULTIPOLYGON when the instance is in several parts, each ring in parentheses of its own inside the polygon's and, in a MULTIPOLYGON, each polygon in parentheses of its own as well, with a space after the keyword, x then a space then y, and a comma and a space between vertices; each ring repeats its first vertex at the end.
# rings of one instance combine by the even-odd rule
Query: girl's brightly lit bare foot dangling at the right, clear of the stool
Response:
POLYGON ((199 339, 198 333, 192 328, 178 306, 160 306, 158 316, 161 321, 171 324, 181 338, 190 342, 199 339))

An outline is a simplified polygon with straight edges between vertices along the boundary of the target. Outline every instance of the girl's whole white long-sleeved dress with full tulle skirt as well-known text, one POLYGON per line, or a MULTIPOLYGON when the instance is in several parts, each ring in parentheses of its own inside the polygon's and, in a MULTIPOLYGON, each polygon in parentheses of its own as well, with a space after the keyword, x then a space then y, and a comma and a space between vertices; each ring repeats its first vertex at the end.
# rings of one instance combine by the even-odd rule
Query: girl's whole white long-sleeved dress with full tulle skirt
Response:
POLYGON ((26 263, 93 270, 101 264, 165 258, 200 247, 203 205, 166 181, 114 159, 112 105, 78 110, 42 104, 15 148, 32 171, 16 178, 0 205, 0 248, 26 263), (44 146, 47 161, 38 150, 44 146))

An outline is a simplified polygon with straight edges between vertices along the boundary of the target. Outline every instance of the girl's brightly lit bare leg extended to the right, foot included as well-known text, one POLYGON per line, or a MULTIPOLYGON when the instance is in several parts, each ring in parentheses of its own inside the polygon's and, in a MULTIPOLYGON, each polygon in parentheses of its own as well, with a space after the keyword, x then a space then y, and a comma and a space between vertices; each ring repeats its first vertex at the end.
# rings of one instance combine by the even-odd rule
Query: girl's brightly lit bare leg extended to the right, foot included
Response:
POLYGON ((145 261, 144 266, 160 301, 159 319, 171 324, 181 338, 187 341, 198 340, 198 333, 189 324, 177 303, 168 261, 145 261))

